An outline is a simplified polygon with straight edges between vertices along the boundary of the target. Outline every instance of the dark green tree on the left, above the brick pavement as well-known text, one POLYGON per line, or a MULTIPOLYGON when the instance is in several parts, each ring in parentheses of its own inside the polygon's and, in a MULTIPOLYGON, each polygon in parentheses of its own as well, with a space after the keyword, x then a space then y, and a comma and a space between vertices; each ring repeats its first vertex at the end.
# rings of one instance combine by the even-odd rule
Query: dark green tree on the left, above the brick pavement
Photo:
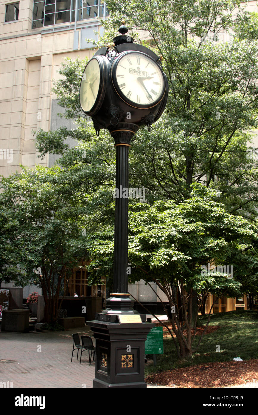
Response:
POLYGON ((75 183, 71 188, 71 181, 72 173, 58 166, 22 168, 1 181, 1 232, 7 239, 0 239, 6 252, 1 254, 5 267, 0 278, 13 279, 15 271, 23 285, 24 281, 39 284, 47 322, 58 317, 65 275, 68 278, 86 255, 84 230, 92 207, 75 183))

